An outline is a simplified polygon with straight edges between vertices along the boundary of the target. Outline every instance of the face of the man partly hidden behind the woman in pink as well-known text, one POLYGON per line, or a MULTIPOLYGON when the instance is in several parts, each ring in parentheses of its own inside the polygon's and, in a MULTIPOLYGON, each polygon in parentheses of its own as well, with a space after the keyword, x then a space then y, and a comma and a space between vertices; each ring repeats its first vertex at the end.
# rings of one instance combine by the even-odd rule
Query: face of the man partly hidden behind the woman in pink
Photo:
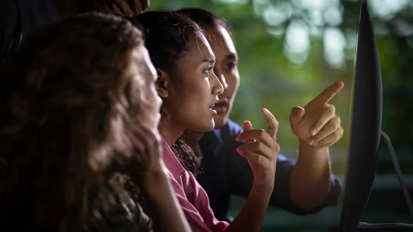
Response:
POLYGON ((213 72, 224 86, 224 93, 219 96, 220 103, 213 107, 218 113, 214 118, 215 128, 219 128, 226 124, 237 89, 240 86, 240 74, 237 68, 238 55, 231 36, 222 25, 206 29, 208 33, 212 34, 209 44, 216 59, 213 72))

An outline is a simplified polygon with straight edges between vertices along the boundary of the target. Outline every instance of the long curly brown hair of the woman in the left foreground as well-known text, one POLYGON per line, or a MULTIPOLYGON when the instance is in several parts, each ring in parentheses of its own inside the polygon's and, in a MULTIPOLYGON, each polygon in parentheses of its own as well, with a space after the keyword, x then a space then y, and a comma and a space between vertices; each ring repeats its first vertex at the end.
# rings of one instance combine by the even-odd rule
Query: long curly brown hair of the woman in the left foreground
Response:
POLYGON ((33 32, 0 70, 0 231, 79 231, 142 107, 140 30, 83 14, 33 32))

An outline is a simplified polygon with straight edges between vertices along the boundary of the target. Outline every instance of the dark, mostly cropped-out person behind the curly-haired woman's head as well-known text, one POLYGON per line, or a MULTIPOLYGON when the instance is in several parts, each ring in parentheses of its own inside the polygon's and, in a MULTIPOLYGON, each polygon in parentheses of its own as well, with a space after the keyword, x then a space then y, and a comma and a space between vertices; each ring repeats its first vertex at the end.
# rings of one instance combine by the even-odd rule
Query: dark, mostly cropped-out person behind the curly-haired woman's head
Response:
POLYGON ((133 16, 149 7, 149 0, 1 0, 0 66, 35 28, 59 16, 98 10, 133 16))

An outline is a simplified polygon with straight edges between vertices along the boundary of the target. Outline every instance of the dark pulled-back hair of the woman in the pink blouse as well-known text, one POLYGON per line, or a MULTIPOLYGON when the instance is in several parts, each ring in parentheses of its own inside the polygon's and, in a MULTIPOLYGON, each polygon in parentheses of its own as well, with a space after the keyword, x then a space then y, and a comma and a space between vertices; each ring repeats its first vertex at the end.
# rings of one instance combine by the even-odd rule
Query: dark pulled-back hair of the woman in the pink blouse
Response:
MULTIPOLYGON (((129 20, 144 32, 145 46, 153 66, 178 80, 177 61, 189 51, 193 36, 204 36, 204 30, 186 14, 168 11, 149 11, 129 20)), ((182 167, 194 175, 200 173, 199 162, 183 138, 171 147, 182 167)))

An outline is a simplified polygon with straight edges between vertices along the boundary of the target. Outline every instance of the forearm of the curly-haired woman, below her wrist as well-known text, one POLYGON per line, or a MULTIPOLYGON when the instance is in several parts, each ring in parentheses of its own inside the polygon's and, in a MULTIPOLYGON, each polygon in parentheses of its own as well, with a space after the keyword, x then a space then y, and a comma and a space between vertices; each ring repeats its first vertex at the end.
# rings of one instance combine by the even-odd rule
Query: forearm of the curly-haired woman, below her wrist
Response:
POLYGON ((145 196, 151 208, 155 229, 167 232, 191 231, 167 173, 162 167, 149 171, 144 182, 145 196))

